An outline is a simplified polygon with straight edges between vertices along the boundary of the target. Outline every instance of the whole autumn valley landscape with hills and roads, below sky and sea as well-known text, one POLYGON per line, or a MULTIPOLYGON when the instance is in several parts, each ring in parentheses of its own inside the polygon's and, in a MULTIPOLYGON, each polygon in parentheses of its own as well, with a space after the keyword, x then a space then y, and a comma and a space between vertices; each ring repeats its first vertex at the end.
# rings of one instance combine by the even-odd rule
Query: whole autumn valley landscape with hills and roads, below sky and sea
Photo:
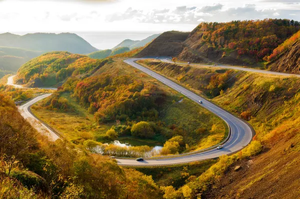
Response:
POLYGON ((0 34, 0 198, 300 197, 299 28, 0 34))

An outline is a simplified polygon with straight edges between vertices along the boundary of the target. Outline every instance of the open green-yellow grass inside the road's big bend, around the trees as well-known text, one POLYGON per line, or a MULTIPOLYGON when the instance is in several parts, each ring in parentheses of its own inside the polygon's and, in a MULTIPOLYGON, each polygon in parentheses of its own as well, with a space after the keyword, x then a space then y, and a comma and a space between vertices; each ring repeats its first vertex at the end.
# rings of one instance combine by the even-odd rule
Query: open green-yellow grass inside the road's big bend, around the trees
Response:
MULTIPOLYGON (((123 63, 121 59, 114 60, 114 62, 100 67, 95 74, 102 72, 117 75, 130 73, 138 79, 152 83, 167 93, 167 100, 165 105, 159 110, 158 120, 164 123, 165 129, 172 124, 178 128, 183 128, 183 131, 178 133, 183 133, 184 141, 189 146, 187 151, 212 146, 219 143, 226 136, 226 126, 219 117, 188 98, 184 98, 181 103, 176 103, 182 98, 180 93, 123 63), (198 128, 205 128, 205 131, 199 134, 196 132, 198 128)), ((37 105, 32 106, 32 112, 74 143, 82 143, 85 139, 95 139, 103 143, 109 141, 106 140, 105 133, 112 125, 116 126, 116 122, 97 124, 93 115, 87 111, 87 107, 79 104, 69 92, 64 92, 61 96, 68 100, 72 111, 48 110, 39 106, 41 104, 39 102, 37 105)), ((121 124, 124 123, 125 121, 121 124)), ((170 129, 168 130, 170 131, 170 129)), ((136 137, 130 138, 136 141, 140 139, 136 137)), ((162 145, 166 139, 163 135, 158 134, 144 141, 162 145)))

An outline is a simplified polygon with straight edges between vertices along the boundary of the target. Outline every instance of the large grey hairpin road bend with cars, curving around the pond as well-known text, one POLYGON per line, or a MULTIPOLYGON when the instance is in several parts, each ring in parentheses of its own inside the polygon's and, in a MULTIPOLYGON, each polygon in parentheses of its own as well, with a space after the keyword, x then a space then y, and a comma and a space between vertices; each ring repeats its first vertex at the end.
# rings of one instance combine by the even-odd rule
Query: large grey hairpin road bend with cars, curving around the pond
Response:
POLYGON ((235 117, 234 115, 230 114, 229 112, 223 110, 222 108, 214 105, 213 103, 207 101, 206 99, 196 95, 195 93, 191 92, 190 90, 178 85, 177 83, 153 72, 152 70, 145 68, 135 61, 144 58, 130 58, 124 60, 125 63, 151 75, 152 77, 156 78, 157 80, 163 82, 164 84, 168 85, 169 87, 177 90, 181 94, 185 95, 186 97, 190 98, 195 102, 199 102, 202 100, 202 104, 199 103, 202 107, 210 110, 214 114, 221 117, 231 129, 231 135, 229 139, 223 144, 223 148, 218 150, 216 148, 210 149, 204 152, 199 152, 195 154, 179 156, 179 157, 171 157, 171 158, 163 158, 163 159, 145 159, 144 161, 136 161, 135 159, 121 159, 116 158, 117 163, 120 165, 167 165, 167 164, 176 164, 176 163, 184 163, 184 162, 191 162, 203 159, 210 159, 219 157, 220 155, 230 154, 236 152, 243 147, 245 147, 252 139, 254 135, 253 129, 245 123, 243 120, 235 117))

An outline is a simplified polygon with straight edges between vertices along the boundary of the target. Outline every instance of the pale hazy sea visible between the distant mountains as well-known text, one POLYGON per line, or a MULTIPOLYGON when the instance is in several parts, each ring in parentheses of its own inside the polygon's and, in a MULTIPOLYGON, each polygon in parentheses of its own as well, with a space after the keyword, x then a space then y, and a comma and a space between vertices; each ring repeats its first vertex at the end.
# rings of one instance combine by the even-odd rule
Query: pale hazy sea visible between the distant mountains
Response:
POLYGON ((124 39, 141 40, 161 32, 74 32, 98 49, 111 49, 124 39))

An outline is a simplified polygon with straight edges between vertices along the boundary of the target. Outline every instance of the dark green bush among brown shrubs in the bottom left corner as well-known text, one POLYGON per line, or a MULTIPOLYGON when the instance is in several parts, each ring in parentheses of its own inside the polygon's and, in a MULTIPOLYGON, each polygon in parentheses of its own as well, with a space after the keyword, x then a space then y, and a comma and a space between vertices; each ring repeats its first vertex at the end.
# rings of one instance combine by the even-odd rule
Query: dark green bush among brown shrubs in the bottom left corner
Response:
POLYGON ((23 186, 26 186, 27 188, 39 190, 45 188, 45 180, 41 176, 31 171, 14 171, 12 172, 11 176, 19 180, 23 186))

